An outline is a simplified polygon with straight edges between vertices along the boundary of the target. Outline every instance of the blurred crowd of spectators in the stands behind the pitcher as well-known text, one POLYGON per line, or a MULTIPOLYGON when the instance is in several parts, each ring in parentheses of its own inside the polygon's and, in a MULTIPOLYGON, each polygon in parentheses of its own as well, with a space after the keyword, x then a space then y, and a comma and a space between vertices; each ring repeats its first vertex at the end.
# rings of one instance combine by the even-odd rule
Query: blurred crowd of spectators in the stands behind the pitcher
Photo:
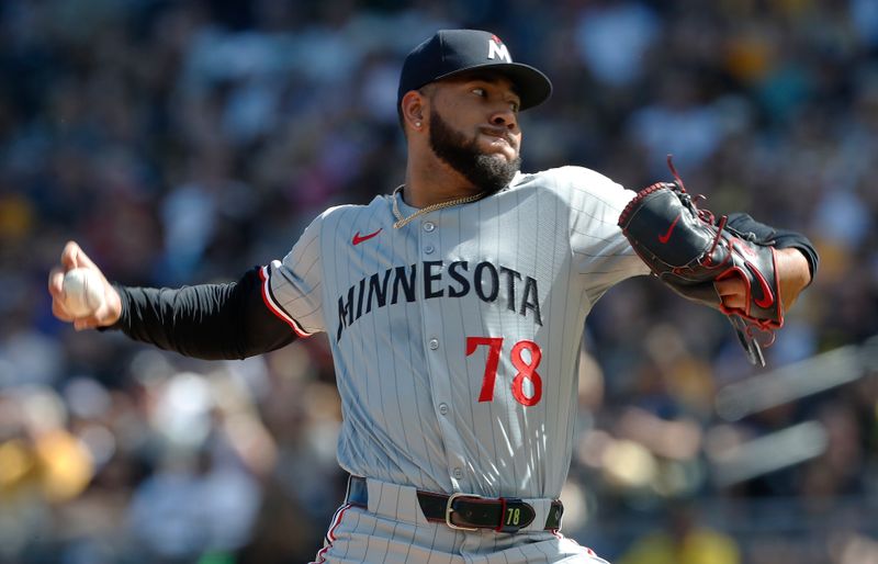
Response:
POLYGON ((47 272, 75 239, 123 283, 230 281, 390 193, 402 58, 459 26, 554 82, 526 170, 639 189, 671 153, 822 256, 768 369, 655 281, 601 300, 564 532, 617 564, 878 563, 875 0, 0 2, 0 563, 314 556, 345 487, 324 338, 192 361, 56 322, 47 272))

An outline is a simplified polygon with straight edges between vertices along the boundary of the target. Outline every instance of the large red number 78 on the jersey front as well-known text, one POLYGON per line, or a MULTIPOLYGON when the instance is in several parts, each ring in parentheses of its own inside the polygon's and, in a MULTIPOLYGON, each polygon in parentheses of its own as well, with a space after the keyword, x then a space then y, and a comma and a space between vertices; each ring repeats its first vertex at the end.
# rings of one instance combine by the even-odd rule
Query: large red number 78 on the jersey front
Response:
MULTIPOLYGON (((469 357, 480 346, 486 346, 487 360, 485 362, 485 375, 482 379, 482 391, 479 394, 480 402, 494 401, 494 383, 497 380, 497 368, 500 362, 503 350, 503 337, 466 337, 466 356, 469 357)), ((542 379, 537 373, 537 366, 542 360, 542 350, 539 345, 529 340, 520 340, 513 346, 511 361, 513 366, 518 371, 513 379, 513 397, 524 406, 532 406, 540 403, 542 398, 542 379), (530 361, 522 357, 525 350, 530 352, 530 361), (525 394, 525 381, 529 381, 533 391, 529 397, 525 394)))

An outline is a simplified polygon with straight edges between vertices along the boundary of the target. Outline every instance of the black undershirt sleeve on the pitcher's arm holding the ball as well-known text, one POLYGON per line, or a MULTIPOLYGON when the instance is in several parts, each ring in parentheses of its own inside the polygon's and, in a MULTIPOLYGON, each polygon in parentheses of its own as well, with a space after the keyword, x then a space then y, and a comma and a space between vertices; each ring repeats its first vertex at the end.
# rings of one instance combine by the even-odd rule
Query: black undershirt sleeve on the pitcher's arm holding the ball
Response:
POLYGON ((187 357, 244 359, 296 338, 262 301, 258 268, 228 284, 115 289, 122 317, 110 329, 187 357))

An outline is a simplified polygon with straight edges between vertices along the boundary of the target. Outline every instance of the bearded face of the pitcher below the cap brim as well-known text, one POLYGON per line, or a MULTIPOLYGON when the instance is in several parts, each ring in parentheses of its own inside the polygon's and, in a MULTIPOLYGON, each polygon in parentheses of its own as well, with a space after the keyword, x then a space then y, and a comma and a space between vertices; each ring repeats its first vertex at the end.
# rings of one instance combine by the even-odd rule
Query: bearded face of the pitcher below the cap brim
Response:
POLYGON ((498 75, 466 75, 431 91, 430 148, 473 184, 496 192, 521 166, 518 95, 498 75))

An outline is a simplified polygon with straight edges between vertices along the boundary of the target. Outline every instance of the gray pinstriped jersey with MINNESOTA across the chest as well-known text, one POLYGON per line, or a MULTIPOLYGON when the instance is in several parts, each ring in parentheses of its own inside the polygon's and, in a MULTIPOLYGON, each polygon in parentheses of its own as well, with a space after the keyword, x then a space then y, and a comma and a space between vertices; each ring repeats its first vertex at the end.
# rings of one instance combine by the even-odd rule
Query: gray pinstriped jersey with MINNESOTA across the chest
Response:
POLYGON ((266 268, 266 293, 296 332, 329 337, 341 466, 435 492, 558 497, 585 317, 649 272, 616 225, 633 195, 564 167, 399 229, 389 195, 317 217, 266 268))

